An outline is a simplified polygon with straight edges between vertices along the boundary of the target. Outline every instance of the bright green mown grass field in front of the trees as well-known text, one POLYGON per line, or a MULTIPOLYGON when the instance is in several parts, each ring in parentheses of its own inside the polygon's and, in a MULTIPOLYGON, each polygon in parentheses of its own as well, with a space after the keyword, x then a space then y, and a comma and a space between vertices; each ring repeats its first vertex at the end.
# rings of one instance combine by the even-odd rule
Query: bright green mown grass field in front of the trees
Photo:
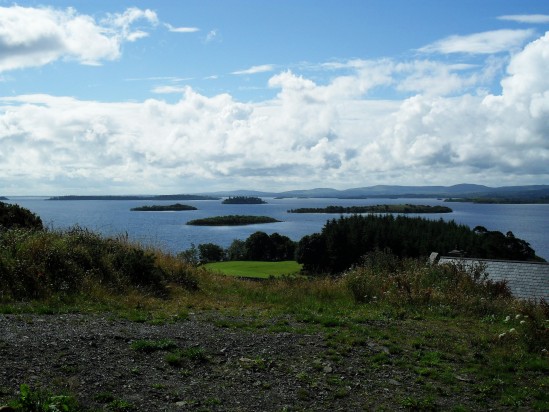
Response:
POLYGON ((228 276, 268 278, 283 275, 297 275, 301 265, 294 260, 283 262, 230 261, 208 263, 204 267, 228 276))

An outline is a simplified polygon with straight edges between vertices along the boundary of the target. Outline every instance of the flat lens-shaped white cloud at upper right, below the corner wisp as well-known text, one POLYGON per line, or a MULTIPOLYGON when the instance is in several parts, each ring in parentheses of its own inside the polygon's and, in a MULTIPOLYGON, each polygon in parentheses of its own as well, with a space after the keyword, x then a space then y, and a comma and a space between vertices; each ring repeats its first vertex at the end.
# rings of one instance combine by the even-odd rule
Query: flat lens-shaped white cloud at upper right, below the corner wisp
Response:
POLYGON ((419 49, 424 53, 493 54, 522 46, 534 35, 533 30, 494 30, 467 36, 450 36, 419 49))

